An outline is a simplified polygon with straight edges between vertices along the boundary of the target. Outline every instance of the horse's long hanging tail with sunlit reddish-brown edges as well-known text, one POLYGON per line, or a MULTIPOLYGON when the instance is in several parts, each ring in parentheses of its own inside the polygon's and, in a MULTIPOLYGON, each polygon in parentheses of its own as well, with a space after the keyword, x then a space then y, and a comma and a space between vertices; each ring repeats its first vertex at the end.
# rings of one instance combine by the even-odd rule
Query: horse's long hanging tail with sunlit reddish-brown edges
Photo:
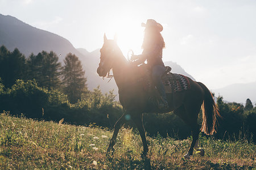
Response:
POLYGON ((203 83, 197 83, 204 89, 204 102, 202 105, 203 122, 201 131, 207 135, 213 135, 213 133, 216 132, 217 117, 221 117, 220 113, 218 113, 218 106, 214 102, 214 98, 209 89, 203 83))

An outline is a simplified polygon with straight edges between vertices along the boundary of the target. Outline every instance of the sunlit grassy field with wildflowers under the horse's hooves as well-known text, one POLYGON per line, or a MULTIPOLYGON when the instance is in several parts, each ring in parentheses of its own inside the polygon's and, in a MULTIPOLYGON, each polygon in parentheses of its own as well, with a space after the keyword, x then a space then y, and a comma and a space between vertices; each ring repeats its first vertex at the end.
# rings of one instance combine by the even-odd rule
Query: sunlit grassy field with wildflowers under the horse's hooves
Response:
POLYGON ((138 133, 122 128, 112 160, 106 148, 113 130, 62 125, 0 115, 0 169, 256 169, 255 144, 200 138, 205 156, 183 159, 191 139, 147 137, 148 159, 141 159, 138 133))

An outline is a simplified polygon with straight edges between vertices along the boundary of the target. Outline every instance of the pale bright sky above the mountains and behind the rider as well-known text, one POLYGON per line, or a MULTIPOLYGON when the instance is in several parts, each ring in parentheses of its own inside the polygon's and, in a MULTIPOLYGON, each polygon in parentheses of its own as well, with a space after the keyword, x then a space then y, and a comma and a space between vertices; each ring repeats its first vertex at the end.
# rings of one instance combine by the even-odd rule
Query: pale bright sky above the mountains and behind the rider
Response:
POLYGON ((101 48, 104 33, 117 34, 125 56, 129 49, 142 52, 141 23, 155 19, 163 26, 163 61, 209 89, 256 81, 256 1, 0 0, 0 14, 89 52, 101 48))

